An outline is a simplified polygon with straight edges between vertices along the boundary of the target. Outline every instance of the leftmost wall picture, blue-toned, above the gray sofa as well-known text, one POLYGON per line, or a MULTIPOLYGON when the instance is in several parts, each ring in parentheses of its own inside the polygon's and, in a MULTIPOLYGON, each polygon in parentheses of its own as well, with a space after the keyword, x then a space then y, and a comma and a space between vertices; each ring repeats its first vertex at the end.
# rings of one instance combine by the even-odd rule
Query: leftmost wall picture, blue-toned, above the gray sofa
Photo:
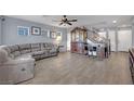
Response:
POLYGON ((29 27, 17 26, 17 35, 28 36, 29 35, 29 27))

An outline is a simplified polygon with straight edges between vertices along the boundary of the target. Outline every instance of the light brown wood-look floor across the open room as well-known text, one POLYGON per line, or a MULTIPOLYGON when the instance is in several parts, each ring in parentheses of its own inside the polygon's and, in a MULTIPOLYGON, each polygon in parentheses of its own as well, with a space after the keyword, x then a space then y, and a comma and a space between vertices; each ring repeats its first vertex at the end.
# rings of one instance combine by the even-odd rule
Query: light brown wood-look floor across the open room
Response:
POLYGON ((103 61, 76 53, 37 61, 34 79, 21 85, 132 85, 128 53, 103 61))

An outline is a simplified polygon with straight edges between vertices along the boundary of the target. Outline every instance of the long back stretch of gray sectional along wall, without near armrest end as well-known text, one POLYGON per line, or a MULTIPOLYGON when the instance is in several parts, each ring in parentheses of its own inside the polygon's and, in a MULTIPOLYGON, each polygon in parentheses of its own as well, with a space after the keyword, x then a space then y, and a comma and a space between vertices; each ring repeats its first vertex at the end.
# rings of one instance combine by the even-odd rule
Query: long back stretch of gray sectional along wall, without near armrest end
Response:
POLYGON ((4 49, 12 59, 19 59, 31 55, 36 60, 57 55, 57 46, 53 43, 25 43, 15 46, 5 46, 4 49))

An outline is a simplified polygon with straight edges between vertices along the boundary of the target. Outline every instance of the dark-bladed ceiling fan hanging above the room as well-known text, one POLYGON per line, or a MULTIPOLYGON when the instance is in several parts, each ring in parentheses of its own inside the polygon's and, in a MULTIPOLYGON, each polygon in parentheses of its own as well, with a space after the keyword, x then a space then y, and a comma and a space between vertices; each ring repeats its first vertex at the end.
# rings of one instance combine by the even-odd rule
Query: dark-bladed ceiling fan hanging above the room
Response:
POLYGON ((53 22, 59 22, 59 25, 72 25, 71 22, 77 22, 78 20, 77 18, 73 18, 73 20, 68 20, 66 15, 63 15, 62 20, 59 21, 53 21, 53 22))

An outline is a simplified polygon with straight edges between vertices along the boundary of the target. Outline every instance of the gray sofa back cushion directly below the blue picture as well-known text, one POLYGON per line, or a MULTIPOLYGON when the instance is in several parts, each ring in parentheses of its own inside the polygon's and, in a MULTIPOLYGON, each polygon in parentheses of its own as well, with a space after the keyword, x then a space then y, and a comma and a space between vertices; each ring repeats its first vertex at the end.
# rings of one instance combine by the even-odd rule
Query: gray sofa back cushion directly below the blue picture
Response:
POLYGON ((22 54, 31 52, 30 43, 18 45, 18 47, 19 47, 19 51, 21 51, 22 54))

